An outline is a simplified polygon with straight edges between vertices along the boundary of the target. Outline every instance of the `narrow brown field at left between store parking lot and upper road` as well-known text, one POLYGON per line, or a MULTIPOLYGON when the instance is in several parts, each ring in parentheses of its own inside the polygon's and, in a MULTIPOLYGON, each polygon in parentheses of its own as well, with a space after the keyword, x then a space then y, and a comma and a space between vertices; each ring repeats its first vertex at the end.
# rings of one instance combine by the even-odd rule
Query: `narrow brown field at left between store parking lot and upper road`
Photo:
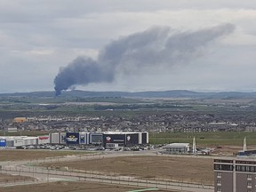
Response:
POLYGON ((42 159, 45 157, 54 156, 72 156, 72 155, 83 155, 89 152, 81 151, 51 151, 51 150, 0 150, 0 161, 21 161, 21 160, 34 160, 42 159))

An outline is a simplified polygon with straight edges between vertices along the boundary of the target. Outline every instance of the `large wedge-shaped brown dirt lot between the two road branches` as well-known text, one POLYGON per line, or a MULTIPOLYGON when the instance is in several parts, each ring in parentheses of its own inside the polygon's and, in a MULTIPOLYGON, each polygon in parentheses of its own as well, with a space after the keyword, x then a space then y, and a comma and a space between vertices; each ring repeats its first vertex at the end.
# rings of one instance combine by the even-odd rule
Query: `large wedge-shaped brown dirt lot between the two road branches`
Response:
POLYGON ((44 164, 48 167, 68 166, 68 170, 83 170, 107 174, 121 174, 157 180, 180 180, 213 184, 213 159, 173 156, 124 156, 44 164))

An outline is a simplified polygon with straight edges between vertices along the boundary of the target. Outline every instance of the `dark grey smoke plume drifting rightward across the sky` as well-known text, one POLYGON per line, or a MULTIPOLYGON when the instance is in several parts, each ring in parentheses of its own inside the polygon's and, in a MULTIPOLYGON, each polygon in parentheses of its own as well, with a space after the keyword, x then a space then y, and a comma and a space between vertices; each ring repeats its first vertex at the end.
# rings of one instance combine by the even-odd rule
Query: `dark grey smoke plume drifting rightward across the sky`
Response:
POLYGON ((157 27, 120 37, 101 50, 97 60, 78 57, 61 68, 54 79, 56 95, 78 84, 110 83, 117 72, 129 74, 143 68, 172 66, 191 60, 205 45, 234 29, 234 25, 225 24, 178 33, 171 28, 157 27))

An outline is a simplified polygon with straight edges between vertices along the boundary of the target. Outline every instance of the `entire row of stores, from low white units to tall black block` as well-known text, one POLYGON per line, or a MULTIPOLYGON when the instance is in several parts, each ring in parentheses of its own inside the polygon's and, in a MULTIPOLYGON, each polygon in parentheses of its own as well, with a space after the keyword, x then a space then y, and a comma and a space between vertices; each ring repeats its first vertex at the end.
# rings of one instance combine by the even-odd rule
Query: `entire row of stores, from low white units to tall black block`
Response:
POLYGON ((53 132, 49 135, 28 137, 0 137, 0 148, 40 144, 97 145, 104 148, 131 147, 148 144, 148 132, 53 132))

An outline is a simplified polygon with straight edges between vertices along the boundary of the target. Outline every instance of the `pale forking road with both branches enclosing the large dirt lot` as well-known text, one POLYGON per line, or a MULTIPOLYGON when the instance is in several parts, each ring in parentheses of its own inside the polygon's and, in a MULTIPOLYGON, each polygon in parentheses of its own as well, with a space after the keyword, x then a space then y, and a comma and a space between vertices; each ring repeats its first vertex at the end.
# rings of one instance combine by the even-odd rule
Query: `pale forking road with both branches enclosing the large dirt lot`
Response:
MULTIPOLYGON (((2 162, 1 172, 6 172, 10 174, 19 174, 22 176, 34 177, 37 182, 50 182, 56 180, 74 180, 74 181, 94 181, 103 183, 112 183, 118 185, 129 185, 138 186, 144 188, 163 188, 172 189, 178 191, 188 191, 188 192, 212 192, 212 186, 202 186, 196 184, 187 184, 179 182, 171 182, 168 180, 142 180, 133 177, 124 176, 109 176, 97 173, 86 173, 86 172, 68 172, 68 171, 57 171, 57 170, 47 170, 44 167, 28 166, 28 164, 39 164, 48 162, 64 162, 64 161, 77 161, 95 158, 107 158, 114 156, 156 156, 156 151, 142 151, 142 152, 108 152, 95 155, 86 156, 66 156, 66 157, 54 157, 37 159, 33 161, 15 161, 15 162, 2 162)), ((165 156, 165 155, 160 155, 165 156)), ((184 156, 183 156, 184 157, 184 156)), ((191 156, 189 156, 191 157, 191 156)), ((196 157, 196 156, 194 156, 196 157)), ((16 183, 20 185, 21 183, 16 183)), ((31 184, 31 183, 24 183, 31 184)))

